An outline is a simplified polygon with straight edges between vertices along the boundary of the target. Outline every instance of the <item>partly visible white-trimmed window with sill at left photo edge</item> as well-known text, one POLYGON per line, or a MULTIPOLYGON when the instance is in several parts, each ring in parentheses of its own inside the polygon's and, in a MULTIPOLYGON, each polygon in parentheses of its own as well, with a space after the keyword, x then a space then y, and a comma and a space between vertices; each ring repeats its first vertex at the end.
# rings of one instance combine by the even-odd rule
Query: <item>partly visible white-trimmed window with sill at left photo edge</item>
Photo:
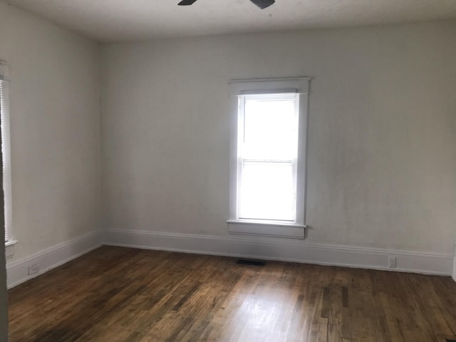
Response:
POLYGON ((4 167, 4 206, 5 206, 5 229, 8 241, 5 242, 6 257, 14 254, 14 245, 17 243, 12 232, 12 194, 11 194, 11 140, 10 140, 10 115, 9 115, 9 66, 4 61, 0 61, 0 82, 2 82, 4 92, 4 108, 2 115, 2 157, 4 163, 9 165, 4 167))

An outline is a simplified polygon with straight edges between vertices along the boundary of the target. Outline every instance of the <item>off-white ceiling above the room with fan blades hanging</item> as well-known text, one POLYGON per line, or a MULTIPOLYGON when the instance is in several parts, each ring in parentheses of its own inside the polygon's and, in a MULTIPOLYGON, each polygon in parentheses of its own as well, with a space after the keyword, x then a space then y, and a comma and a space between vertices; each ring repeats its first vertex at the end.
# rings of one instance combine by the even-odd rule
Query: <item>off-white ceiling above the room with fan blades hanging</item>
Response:
POLYGON ((9 0, 100 42, 456 18, 456 0, 9 0))

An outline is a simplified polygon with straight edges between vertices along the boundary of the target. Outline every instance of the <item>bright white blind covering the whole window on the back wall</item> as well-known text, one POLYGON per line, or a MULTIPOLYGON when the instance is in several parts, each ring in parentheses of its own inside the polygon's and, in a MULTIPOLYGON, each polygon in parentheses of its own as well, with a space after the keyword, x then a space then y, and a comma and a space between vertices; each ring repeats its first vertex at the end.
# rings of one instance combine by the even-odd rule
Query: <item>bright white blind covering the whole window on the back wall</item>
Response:
POLYGON ((299 94, 239 95, 237 218, 296 221, 299 94))

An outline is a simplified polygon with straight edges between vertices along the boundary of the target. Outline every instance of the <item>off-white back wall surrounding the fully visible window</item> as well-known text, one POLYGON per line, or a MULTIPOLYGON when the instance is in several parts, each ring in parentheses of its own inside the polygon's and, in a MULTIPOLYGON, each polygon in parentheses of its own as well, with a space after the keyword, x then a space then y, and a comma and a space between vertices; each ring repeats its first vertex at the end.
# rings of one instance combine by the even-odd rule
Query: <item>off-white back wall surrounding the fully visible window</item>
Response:
POLYGON ((441 21, 103 46, 105 227, 228 236, 228 81, 315 76, 301 244, 453 255, 455 36, 441 21))

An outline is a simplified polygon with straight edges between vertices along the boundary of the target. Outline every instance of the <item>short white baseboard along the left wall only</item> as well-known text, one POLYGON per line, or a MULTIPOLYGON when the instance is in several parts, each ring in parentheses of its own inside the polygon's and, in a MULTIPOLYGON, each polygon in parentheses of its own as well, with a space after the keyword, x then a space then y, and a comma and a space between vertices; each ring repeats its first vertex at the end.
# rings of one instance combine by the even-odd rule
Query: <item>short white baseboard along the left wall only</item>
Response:
POLYGON ((33 254, 26 259, 8 264, 6 265, 6 283, 8 289, 46 273, 77 257, 81 257, 81 255, 100 247, 102 244, 103 233, 101 231, 90 232, 89 234, 33 254), (29 275, 28 266, 32 264, 40 264, 40 269, 38 273, 29 275))

